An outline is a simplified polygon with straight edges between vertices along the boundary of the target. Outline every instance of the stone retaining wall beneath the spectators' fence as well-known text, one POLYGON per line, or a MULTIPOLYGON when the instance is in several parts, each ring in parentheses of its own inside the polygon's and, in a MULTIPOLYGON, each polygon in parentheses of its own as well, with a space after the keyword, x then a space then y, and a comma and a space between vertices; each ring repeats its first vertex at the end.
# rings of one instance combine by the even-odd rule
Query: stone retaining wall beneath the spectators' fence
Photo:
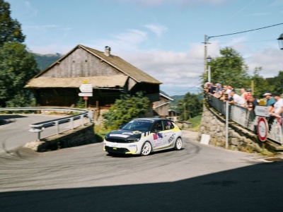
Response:
MULTIPOLYGON (((197 141, 201 141, 202 134, 210 136, 209 145, 226 148, 226 123, 225 117, 219 115, 213 108, 204 104, 200 132, 197 141)), ((275 153, 275 145, 270 141, 262 142, 258 135, 243 129, 234 122, 229 122, 229 149, 248 153, 262 153, 272 155, 275 153)))

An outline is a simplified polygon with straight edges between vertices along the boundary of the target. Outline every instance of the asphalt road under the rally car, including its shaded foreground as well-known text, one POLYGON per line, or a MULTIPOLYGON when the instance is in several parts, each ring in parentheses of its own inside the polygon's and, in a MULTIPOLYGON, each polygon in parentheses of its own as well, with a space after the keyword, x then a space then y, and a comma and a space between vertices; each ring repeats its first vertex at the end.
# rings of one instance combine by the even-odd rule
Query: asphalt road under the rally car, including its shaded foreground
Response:
POLYGON ((1 211, 282 211, 283 163, 205 146, 112 157, 102 143, 0 157, 1 211))

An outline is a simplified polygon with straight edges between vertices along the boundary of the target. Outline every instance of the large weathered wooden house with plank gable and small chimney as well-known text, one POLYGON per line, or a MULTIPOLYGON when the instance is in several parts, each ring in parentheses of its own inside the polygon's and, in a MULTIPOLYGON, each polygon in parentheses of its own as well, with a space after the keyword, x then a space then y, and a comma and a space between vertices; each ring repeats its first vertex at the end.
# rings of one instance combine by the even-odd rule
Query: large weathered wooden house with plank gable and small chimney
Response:
POLYGON ((134 95, 141 90, 151 102, 149 108, 152 102, 159 100, 161 82, 110 54, 110 47, 100 52, 77 45, 31 78, 25 88, 33 90, 37 105, 70 107, 81 98, 79 87, 84 82, 93 87, 93 96, 88 97, 88 107, 107 109, 122 93, 134 95))

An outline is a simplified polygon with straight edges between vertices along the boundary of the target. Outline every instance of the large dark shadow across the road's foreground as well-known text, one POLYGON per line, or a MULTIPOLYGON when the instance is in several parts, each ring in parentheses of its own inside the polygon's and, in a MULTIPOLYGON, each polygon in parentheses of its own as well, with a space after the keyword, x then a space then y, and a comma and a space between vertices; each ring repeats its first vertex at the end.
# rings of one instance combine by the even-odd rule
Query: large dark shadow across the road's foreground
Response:
POLYGON ((282 174, 283 162, 277 161, 177 182, 1 192, 0 208, 5 212, 282 211, 282 174))

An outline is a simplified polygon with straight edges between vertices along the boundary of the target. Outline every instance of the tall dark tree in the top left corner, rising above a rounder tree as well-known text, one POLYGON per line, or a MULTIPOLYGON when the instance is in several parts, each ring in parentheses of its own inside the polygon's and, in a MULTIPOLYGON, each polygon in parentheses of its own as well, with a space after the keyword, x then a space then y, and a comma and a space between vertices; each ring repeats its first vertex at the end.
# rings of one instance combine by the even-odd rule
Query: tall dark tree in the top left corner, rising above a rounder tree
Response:
POLYGON ((25 35, 21 30, 21 24, 18 20, 11 18, 10 4, 0 0, 0 47, 5 42, 24 42, 25 35))

